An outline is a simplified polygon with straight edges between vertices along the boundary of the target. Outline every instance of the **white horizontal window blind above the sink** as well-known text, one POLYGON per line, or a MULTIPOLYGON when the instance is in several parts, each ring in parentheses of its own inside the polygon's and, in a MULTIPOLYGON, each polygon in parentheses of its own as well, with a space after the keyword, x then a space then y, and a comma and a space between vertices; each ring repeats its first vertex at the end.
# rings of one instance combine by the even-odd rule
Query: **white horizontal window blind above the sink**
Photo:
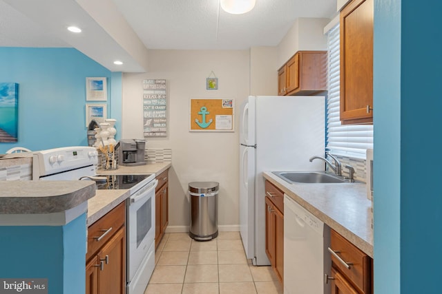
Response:
POLYGON ((365 158, 365 150, 373 148, 373 125, 341 125, 339 118, 339 24, 327 33, 328 97, 326 148, 332 154, 365 158))

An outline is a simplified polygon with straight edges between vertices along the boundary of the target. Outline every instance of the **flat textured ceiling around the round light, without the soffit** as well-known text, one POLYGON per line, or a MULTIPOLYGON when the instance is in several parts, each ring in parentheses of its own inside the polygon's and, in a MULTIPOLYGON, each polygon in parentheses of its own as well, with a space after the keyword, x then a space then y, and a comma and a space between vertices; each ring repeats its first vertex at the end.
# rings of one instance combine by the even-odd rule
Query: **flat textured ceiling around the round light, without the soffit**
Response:
POLYGON ((219 0, 113 1, 144 45, 152 49, 273 46, 298 17, 336 14, 336 0, 256 0, 251 12, 236 15, 219 9, 219 0))

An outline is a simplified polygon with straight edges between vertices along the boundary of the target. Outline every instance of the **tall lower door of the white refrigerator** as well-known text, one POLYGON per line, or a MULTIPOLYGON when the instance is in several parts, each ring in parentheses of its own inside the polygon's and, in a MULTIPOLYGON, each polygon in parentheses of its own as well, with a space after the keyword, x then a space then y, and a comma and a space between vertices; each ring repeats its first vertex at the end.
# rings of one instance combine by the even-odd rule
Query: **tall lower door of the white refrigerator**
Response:
POLYGON ((240 233, 247 259, 255 257, 255 152, 240 145, 240 233))

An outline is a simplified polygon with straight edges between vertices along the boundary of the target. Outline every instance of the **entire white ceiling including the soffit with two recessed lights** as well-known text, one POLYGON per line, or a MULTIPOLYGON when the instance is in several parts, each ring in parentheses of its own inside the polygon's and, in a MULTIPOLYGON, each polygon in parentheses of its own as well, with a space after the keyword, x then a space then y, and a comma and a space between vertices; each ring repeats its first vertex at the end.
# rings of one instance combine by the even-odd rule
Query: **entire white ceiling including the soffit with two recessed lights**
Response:
POLYGON ((73 47, 111 71, 143 72, 148 49, 274 46, 299 17, 335 15, 336 0, 256 0, 238 15, 219 0, 0 0, 0 46, 73 47))

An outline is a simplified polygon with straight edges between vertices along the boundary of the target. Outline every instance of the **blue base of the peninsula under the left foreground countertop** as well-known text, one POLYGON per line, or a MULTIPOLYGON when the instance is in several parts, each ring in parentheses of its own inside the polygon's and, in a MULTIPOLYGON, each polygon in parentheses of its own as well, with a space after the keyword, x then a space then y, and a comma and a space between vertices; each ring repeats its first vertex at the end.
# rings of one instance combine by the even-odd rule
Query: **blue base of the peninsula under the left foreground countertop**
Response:
POLYGON ((0 277, 48 279, 49 294, 84 293, 86 213, 64 226, 0 226, 0 277))

